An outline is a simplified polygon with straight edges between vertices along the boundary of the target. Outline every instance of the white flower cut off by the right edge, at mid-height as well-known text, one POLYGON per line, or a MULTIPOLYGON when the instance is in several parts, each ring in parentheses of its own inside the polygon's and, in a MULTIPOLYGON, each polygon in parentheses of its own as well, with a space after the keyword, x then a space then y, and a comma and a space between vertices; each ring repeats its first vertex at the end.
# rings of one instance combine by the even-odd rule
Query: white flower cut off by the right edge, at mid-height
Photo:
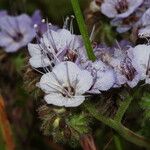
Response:
POLYGON ((146 71, 150 57, 150 45, 142 44, 130 48, 128 55, 132 60, 132 65, 140 74, 141 80, 144 80, 146 78, 146 71))

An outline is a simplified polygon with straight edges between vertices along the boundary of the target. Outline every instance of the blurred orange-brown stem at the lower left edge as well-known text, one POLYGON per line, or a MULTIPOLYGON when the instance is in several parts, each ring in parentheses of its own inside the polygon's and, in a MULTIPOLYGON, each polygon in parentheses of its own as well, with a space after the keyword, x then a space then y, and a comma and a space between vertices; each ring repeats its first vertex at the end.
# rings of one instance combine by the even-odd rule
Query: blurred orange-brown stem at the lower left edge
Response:
POLYGON ((5 112, 4 100, 0 95, 0 130, 5 141, 6 150, 14 150, 15 144, 12 137, 12 131, 5 112))

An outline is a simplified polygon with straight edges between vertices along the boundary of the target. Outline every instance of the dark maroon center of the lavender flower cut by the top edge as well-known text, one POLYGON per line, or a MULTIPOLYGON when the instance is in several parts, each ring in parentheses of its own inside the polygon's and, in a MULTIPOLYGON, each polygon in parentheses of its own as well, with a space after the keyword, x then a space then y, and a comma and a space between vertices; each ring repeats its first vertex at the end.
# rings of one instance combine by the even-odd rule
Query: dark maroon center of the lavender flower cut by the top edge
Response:
POLYGON ((118 0, 115 8, 119 14, 126 12, 128 10, 127 0, 118 0))

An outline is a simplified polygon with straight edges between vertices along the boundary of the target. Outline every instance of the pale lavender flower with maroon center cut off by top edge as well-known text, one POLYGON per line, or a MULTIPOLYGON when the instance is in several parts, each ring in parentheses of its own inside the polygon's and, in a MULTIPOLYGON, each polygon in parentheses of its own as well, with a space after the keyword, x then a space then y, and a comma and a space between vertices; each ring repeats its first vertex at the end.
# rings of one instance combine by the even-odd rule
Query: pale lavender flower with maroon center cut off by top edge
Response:
POLYGON ((142 3, 143 0, 104 0, 101 12, 109 18, 126 18, 142 3))

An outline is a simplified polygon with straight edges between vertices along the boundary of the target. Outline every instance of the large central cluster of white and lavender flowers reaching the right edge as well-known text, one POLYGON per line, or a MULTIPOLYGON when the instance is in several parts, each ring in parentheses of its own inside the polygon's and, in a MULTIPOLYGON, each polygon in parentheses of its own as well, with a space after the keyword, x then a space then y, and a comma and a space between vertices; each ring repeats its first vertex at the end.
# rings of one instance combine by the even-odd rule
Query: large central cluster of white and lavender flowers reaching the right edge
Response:
POLYGON ((93 62, 81 36, 73 34, 72 27, 69 30, 49 24, 37 43, 28 44, 29 63, 42 74, 37 86, 48 104, 76 107, 111 88, 149 83, 149 45, 133 46, 125 40, 112 47, 96 44, 93 62))

